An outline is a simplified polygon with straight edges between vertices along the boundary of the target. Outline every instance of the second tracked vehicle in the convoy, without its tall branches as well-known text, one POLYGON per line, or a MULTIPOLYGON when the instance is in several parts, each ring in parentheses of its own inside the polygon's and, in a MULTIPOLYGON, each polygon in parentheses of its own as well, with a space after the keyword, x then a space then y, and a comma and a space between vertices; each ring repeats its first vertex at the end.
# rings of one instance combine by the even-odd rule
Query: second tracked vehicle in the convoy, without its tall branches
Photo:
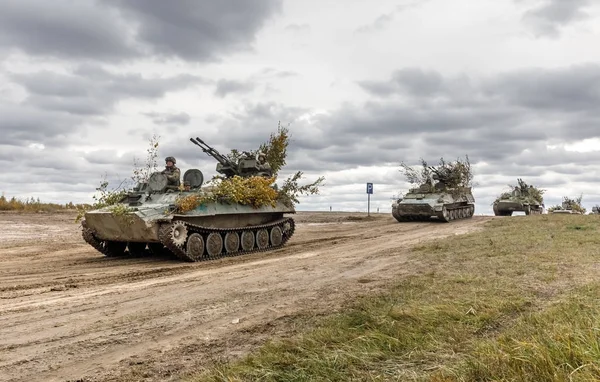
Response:
POLYGON ((411 188, 403 198, 392 204, 392 216, 399 222, 437 219, 443 222, 467 219, 475 213, 475 198, 471 187, 448 185, 448 174, 433 167, 430 179, 411 188))

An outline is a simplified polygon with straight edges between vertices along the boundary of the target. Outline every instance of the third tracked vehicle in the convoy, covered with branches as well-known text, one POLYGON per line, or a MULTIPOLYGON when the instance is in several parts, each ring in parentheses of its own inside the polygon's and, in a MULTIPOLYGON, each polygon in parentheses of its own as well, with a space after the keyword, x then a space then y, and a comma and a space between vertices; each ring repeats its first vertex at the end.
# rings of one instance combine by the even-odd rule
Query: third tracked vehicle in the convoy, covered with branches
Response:
POLYGON ((493 203, 494 215, 511 216, 513 212, 525 212, 525 215, 540 215, 544 212, 543 190, 527 185, 517 179, 518 185, 512 192, 504 192, 493 203))

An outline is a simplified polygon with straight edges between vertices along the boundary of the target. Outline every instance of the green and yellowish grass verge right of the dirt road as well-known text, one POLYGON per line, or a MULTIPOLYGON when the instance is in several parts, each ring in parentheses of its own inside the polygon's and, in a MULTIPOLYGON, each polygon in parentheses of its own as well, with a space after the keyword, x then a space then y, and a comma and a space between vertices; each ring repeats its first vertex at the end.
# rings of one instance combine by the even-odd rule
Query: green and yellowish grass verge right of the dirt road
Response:
POLYGON ((600 219, 496 219, 419 246, 419 271, 191 381, 600 379, 600 219))

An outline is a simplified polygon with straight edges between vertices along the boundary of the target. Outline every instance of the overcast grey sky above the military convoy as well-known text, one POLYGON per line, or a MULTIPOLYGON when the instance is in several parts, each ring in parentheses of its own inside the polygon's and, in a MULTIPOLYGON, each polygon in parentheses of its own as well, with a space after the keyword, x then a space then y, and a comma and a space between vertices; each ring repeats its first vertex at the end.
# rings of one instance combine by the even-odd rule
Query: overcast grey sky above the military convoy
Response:
POLYGON ((3 0, 0 192, 91 202, 148 139, 205 178, 292 132, 298 210, 390 212, 404 161, 468 155, 476 214, 517 177, 600 204, 600 3, 3 0))

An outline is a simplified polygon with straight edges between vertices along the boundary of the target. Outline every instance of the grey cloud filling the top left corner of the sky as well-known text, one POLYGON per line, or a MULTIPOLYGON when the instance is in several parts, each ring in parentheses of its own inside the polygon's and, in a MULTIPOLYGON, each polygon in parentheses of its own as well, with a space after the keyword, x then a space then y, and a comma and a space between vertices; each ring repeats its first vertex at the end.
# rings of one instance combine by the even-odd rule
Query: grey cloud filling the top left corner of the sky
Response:
POLYGON ((31 55, 114 61, 138 54, 128 36, 127 25, 94 1, 0 2, 0 47, 31 55))

